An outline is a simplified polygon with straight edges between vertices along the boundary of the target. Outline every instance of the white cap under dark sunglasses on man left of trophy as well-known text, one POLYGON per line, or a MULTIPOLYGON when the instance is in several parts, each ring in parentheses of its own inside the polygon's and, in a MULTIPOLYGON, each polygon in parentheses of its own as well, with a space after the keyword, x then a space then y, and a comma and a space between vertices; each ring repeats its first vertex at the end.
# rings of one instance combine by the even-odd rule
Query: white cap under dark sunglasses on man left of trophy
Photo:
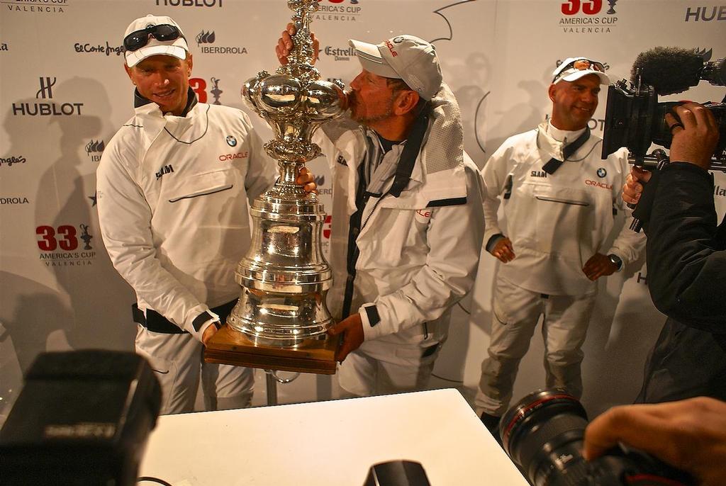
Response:
POLYGON ((163 55, 163 56, 174 56, 179 59, 187 59, 187 52, 189 52, 189 45, 187 40, 184 38, 184 32, 181 31, 179 24, 174 22, 174 19, 166 16, 147 15, 146 17, 139 17, 129 24, 126 28, 126 33, 123 34, 123 46, 126 49, 124 56, 126 57, 126 65, 134 67, 136 63, 146 59, 147 57, 163 55), (171 28, 166 29, 163 33, 155 32, 155 26, 168 25, 171 28), (175 32, 175 28, 178 33, 175 32), (146 32, 144 32, 146 30, 146 32), (135 39, 129 39, 131 33, 139 34, 135 39), (169 37, 168 40, 160 40, 164 37, 169 37), (133 41, 143 41, 146 43, 142 44, 142 47, 136 50, 129 50, 128 44, 133 41))

